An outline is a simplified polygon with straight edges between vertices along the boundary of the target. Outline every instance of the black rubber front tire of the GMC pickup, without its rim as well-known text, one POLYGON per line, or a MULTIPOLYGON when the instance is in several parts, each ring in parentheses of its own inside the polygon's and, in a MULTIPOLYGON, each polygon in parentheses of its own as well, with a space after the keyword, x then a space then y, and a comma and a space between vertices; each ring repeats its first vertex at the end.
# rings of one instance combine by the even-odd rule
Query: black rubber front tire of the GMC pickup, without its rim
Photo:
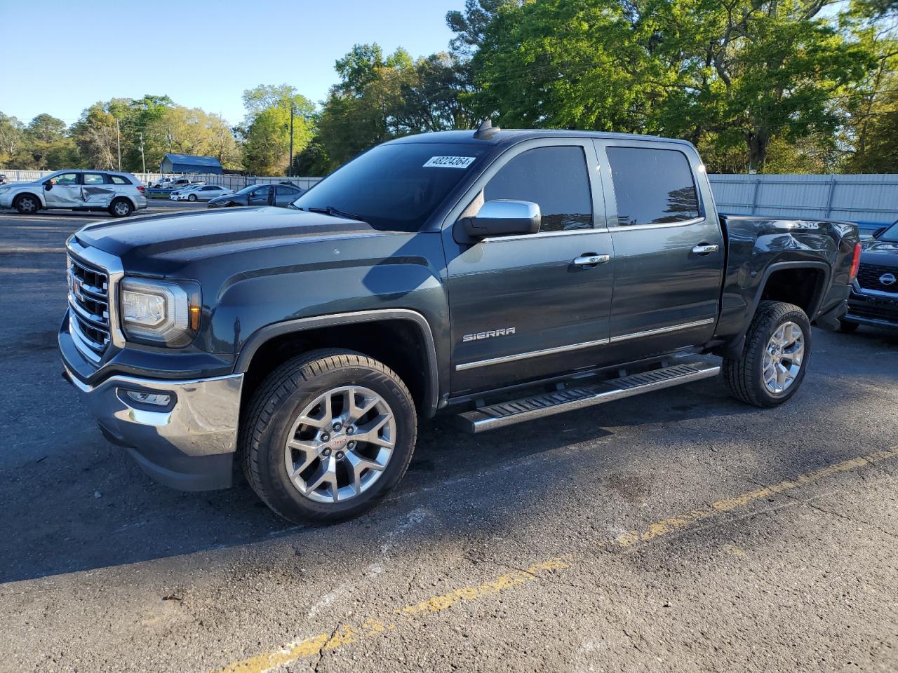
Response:
POLYGON ((262 381, 242 418, 243 474, 272 511, 296 523, 321 525, 369 511, 405 475, 418 434, 418 416, 409 389, 388 367, 360 353, 316 350, 281 364, 262 381), (287 476, 287 434, 315 398, 340 386, 374 391, 390 406, 396 423, 392 454, 370 488, 345 501, 315 502, 287 476))

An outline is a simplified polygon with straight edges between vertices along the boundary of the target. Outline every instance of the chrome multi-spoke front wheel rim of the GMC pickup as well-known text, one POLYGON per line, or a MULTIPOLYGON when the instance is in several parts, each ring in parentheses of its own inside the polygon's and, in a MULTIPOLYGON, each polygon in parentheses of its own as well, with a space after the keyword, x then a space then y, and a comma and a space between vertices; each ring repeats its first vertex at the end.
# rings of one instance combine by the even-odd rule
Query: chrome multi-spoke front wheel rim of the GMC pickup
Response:
POLYGON ((392 409, 374 390, 331 389, 305 406, 287 433, 286 473, 310 500, 343 502, 374 485, 395 442, 392 409))

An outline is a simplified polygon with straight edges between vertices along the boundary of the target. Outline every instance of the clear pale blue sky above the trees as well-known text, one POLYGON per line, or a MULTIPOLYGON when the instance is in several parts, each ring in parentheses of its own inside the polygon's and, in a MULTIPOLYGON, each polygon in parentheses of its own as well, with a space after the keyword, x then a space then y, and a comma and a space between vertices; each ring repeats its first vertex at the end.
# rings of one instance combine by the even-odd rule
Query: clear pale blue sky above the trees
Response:
POLYGON ((463 4, 0 0, 0 112, 71 124, 96 101, 154 93, 236 124, 243 90, 257 84, 292 84, 322 101, 337 81, 334 61, 356 43, 412 57, 445 50, 445 13, 463 4))

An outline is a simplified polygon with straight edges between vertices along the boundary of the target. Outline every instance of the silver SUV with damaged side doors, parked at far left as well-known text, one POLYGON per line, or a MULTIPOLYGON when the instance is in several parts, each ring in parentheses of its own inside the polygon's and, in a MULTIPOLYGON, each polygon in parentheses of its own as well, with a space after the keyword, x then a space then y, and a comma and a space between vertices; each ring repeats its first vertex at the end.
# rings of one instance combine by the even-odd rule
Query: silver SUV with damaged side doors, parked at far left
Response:
POLYGON ((35 214, 43 208, 105 210, 125 217, 146 207, 144 185, 131 173, 57 170, 34 182, 0 187, 0 208, 35 214))

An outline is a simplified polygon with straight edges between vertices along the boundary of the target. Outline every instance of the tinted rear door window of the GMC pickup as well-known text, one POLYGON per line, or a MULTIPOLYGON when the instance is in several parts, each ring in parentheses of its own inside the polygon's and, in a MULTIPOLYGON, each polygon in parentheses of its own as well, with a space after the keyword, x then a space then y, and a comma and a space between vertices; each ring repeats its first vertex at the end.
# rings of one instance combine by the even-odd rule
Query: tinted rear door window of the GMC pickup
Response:
POLYGON ((609 147, 607 152, 622 226, 699 216, 699 197, 685 154, 642 147, 609 147))

